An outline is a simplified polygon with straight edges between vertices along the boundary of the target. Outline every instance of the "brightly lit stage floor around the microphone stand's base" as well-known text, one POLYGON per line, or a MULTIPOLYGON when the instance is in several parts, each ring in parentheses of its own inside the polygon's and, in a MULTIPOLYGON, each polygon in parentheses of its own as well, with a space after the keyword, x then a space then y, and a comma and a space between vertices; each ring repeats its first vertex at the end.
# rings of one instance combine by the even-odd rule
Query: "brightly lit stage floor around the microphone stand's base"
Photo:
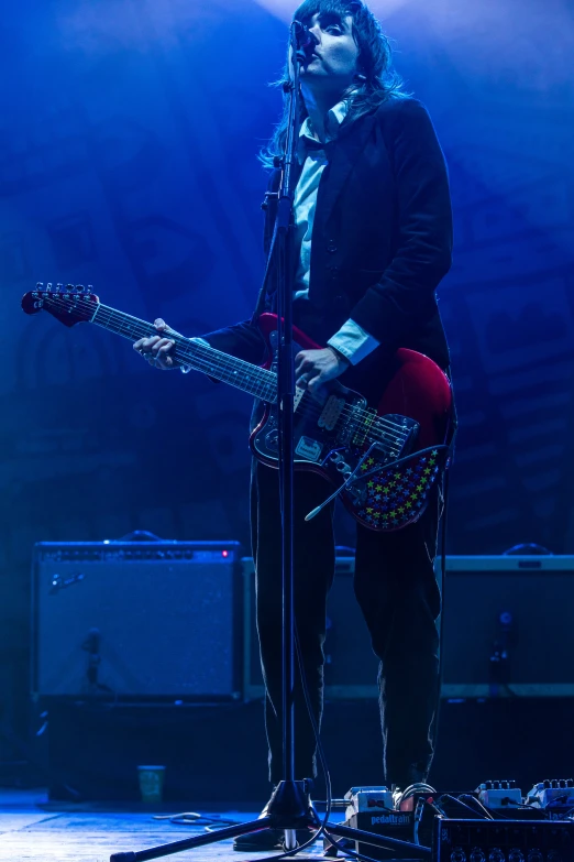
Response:
MULTIPOLYGON (((205 828, 177 826, 169 820, 154 820, 153 814, 142 811, 70 810, 71 806, 45 805, 42 792, 0 790, 0 860, 10 862, 108 862, 112 853, 139 851, 180 841, 201 834, 205 828), (62 810, 66 807, 68 810, 62 810)), ((93 806, 96 808, 96 806, 93 806)), ((180 809, 185 810, 184 808, 180 809)), ((189 810, 189 809, 188 809, 189 810)), ((195 808, 209 815, 207 808, 195 808)), ((169 814, 178 814, 174 808, 169 814)), ((218 815, 238 821, 254 820, 256 812, 217 811, 218 815)), ((333 819, 335 818, 333 816, 333 819)), ((222 841, 208 848, 186 851, 173 856, 174 860, 206 862, 211 860, 241 860, 267 856, 269 853, 238 853, 232 841, 222 841)), ((305 852, 305 858, 322 858, 322 842, 305 852)))

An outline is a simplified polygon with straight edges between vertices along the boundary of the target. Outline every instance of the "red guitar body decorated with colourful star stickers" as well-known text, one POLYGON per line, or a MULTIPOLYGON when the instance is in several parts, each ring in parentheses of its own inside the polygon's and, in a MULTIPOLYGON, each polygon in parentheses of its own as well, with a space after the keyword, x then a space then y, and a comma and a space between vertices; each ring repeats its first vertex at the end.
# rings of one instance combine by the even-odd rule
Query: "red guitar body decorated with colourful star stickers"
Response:
MULTIPOLYGON (((266 368, 272 369, 277 318, 264 314, 258 326, 269 350, 266 368)), ((297 328, 294 341, 297 350, 321 347, 297 328)), ((341 500, 362 524, 385 532, 415 523, 424 511, 448 466, 453 415, 449 380, 431 359, 401 348, 393 368, 376 406, 335 383, 316 410, 308 393, 296 400, 295 410, 295 468, 318 472, 335 488, 352 477, 341 500), (336 402, 331 408, 330 400, 336 402), (321 422, 325 414, 330 421, 321 422)), ((275 404, 265 406, 250 444, 258 460, 277 467, 275 404)))

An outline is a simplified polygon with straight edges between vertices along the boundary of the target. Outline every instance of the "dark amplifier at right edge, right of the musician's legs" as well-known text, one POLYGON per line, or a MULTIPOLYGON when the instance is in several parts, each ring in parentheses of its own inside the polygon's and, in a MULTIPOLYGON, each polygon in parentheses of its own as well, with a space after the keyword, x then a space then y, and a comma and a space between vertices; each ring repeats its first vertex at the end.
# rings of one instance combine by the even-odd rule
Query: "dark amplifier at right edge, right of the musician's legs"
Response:
POLYGON ((573 696, 573 556, 446 557, 443 696, 573 696))

